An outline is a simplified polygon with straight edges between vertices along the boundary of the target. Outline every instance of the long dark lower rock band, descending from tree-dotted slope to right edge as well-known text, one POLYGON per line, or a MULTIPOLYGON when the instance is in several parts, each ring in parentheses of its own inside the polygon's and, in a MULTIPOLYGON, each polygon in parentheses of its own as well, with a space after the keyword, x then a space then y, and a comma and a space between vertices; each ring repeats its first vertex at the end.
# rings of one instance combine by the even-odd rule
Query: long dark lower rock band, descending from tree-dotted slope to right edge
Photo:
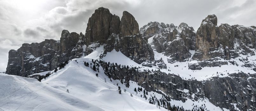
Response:
POLYGON ((138 82, 147 91, 155 91, 163 94, 163 98, 170 101, 185 102, 205 101, 208 98, 211 103, 220 108, 231 111, 256 110, 256 74, 243 72, 229 74, 229 77, 211 77, 205 81, 183 80, 181 77, 166 74, 161 71, 139 71, 140 68, 121 68, 118 65, 107 66, 107 62, 100 64, 103 68, 113 67, 116 70, 105 72, 114 80, 125 80, 126 86, 129 81, 138 82), (160 89, 161 91, 159 91, 160 89), (185 92, 184 90, 187 90, 185 92), (225 101, 225 102, 223 102, 225 101), (235 104, 235 105, 234 105, 235 104))

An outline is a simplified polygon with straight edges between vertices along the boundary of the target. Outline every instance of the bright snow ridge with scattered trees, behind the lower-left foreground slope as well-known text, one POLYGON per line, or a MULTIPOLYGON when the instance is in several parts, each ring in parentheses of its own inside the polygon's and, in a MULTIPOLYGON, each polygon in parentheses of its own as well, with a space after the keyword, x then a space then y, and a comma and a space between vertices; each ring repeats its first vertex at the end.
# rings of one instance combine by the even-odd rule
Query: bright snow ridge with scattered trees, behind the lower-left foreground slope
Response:
POLYGON ((42 82, 62 91, 68 89, 71 95, 107 111, 166 110, 164 108, 156 108, 156 105, 149 104, 144 98, 137 97, 133 91, 135 87, 138 88, 136 84, 131 83, 130 88, 126 88, 120 81, 111 80, 111 82, 101 67, 99 72, 86 67, 84 62, 90 63, 92 62, 91 59, 81 58, 75 60, 68 63, 64 69, 60 69, 45 80, 42 80, 42 82), (98 73, 98 77, 95 75, 96 73, 98 73), (117 91, 117 84, 121 87, 121 95, 117 91), (125 89, 126 92, 124 92, 125 89), (131 97, 130 94, 134 96, 131 97))

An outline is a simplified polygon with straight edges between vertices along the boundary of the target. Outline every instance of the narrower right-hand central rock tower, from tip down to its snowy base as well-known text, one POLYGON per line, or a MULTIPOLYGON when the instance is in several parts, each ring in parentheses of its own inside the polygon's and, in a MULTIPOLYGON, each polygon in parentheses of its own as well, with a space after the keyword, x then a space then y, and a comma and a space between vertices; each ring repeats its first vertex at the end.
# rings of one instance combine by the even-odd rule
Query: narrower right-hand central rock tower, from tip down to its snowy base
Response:
POLYGON ((139 64, 154 61, 153 50, 149 46, 147 40, 142 38, 142 35, 139 34, 139 25, 137 21, 127 11, 123 12, 119 32, 120 51, 125 56, 139 64))

